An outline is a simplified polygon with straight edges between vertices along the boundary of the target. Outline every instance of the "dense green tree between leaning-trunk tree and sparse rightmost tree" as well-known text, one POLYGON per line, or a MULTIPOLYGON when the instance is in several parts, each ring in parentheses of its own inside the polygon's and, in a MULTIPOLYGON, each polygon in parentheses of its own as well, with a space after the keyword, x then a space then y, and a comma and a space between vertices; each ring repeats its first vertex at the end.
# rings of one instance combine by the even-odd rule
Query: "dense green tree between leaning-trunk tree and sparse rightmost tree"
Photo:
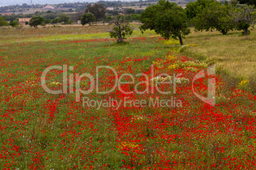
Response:
POLYGON ((222 34, 227 34, 229 30, 235 27, 232 16, 233 7, 218 2, 210 3, 210 6, 204 8, 201 13, 197 13, 193 18, 195 30, 212 30, 216 29, 222 34))

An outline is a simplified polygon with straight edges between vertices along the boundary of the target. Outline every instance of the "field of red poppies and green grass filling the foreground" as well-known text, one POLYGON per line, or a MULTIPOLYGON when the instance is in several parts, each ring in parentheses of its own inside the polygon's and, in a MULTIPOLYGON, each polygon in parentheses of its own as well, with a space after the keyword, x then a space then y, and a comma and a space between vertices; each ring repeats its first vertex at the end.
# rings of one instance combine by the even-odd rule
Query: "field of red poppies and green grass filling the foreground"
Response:
MULTIPOLYGON (((106 27, 86 27, 86 33, 106 27)), ((192 87, 195 75, 215 61, 180 55, 176 41, 157 36, 131 37, 124 44, 101 37, 47 39, 83 31, 1 30, 1 169, 256 169, 256 96, 229 86, 218 68, 192 87), (34 41, 37 37, 46 39, 34 41), (73 67, 68 80, 64 70, 48 72, 46 86, 54 91, 84 73, 99 75, 99 91, 111 89, 115 77, 131 82, 123 76, 129 74, 134 80, 120 84, 123 91, 99 94, 87 77, 54 95, 41 84, 44 70, 53 65, 73 67), (97 72, 100 66, 113 68, 117 76, 110 69, 97 72), (164 83, 171 79, 167 74, 180 74, 175 87, 164 83), (210 78, 216 80, 214 106, 194 94, 206 97, 210 78), (79 88, 92 91, 77 95, 79 88), (84 98, 108 102, 99 107, 84 98)))

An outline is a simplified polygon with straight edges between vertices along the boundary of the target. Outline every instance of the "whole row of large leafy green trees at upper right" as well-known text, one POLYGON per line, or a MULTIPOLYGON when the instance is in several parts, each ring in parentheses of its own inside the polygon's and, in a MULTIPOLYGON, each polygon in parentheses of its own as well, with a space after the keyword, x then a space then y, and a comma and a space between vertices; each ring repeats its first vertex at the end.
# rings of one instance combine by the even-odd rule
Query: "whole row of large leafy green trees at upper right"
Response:
POLYGON ((229 30, 243 30, 243 34, 250 34, 250 27, 256 22, 254 5, 239 4, 232 0, 231 3, 220 3, 215 0, 197 0, 186 5, 185 10, 176 3, 160 0, 158 4, 148 6, 140 16, 140 29, 155 30, 157 34, 169 39, 180 40, 190 33, 189 25, 196 31, 216 29, 222 34, 229 30))

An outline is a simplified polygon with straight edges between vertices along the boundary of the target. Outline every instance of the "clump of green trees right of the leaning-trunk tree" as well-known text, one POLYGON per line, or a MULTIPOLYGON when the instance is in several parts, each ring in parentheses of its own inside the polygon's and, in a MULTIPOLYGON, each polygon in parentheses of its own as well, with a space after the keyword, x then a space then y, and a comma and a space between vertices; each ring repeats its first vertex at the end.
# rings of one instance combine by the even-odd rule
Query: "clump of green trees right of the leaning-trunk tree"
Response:
POLYGON ((188 3, 185 11, 190 25, 197 31, 216 29, 225 35, 236 29, 248 35, 249 27, 254 27, 256 21, 255 6, 249 2, 239 4, 239 1, 232 0, 222 4, 214 0, 197 0, 188 3))

